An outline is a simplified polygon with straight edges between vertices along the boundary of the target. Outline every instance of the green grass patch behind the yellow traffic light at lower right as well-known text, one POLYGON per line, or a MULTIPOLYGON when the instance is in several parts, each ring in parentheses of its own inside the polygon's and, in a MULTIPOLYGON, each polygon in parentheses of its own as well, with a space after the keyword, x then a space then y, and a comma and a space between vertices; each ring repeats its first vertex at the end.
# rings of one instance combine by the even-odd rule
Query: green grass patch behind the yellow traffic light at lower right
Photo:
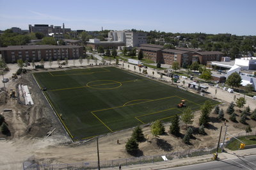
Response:
MULTIPOLYGON (((237 137, 237 139, 243 141, 245 145, 256 144, 256 135, 237 137)), ((240 144, 240 141, 234 139, 234 141, 228 143, 226 148, 228 148, 229 150, 239 150, 240 144)))

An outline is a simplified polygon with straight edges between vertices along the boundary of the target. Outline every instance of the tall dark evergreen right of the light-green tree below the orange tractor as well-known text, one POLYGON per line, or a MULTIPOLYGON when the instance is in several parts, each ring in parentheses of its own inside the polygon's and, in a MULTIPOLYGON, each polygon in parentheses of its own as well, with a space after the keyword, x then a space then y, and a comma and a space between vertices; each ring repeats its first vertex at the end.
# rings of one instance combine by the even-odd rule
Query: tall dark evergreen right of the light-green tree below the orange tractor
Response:
POLYGON ((210 121, 209 114, 212 110, 212 104, 209 100, 204 102, 204 105, 201 106, 201 116, 199 118, 199 125, 207 125, 210 121))

